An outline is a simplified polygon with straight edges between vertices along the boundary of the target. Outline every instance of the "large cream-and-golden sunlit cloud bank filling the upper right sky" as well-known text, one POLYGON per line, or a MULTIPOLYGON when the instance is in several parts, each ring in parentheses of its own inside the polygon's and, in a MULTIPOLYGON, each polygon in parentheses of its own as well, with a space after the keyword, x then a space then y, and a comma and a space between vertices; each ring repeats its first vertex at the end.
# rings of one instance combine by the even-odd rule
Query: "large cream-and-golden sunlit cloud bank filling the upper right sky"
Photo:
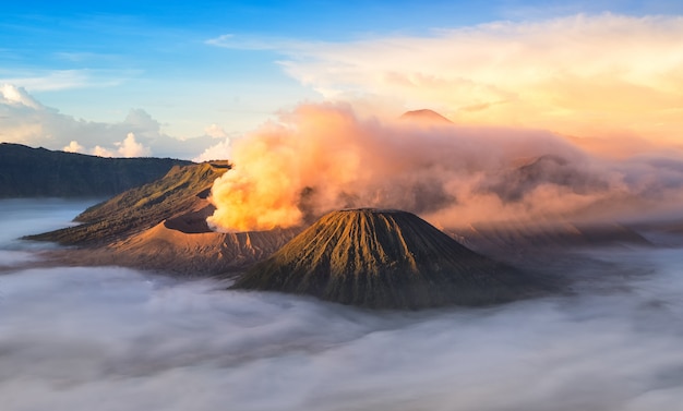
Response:
POLYGON ((421 37, 280 41, 278 51, 287 73, 332 99, 378 95, 462 124, 630 135, 680 148, 682 37, 681 16, 604 13, 421 37))

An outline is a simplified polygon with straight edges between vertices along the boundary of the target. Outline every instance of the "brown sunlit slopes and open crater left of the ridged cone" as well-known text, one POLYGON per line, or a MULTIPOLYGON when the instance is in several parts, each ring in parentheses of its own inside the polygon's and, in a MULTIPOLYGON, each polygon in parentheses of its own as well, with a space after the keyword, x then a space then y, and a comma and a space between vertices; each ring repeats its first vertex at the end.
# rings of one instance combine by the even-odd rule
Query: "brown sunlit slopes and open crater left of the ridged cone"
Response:
POLYGON ((77 245, 49 253, 69 265, 122 265, 180 277, 243 273, 300 229, 209 230, 206 217, 215 210, 211 186, 229 168, 226 161, 176 167, 163 179, 85 210, 76 217, 80 226, 27 239, 77 245))

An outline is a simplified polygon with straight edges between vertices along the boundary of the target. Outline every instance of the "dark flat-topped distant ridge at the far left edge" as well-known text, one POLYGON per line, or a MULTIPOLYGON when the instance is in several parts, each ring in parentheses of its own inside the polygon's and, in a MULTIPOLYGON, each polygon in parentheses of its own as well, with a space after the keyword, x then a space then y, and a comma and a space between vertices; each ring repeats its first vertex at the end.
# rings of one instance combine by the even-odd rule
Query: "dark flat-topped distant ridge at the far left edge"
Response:
POLYGON ((0 144, 0 198, 104 197, 154 181, 173 166, 170 158, 104 158, 0 144))

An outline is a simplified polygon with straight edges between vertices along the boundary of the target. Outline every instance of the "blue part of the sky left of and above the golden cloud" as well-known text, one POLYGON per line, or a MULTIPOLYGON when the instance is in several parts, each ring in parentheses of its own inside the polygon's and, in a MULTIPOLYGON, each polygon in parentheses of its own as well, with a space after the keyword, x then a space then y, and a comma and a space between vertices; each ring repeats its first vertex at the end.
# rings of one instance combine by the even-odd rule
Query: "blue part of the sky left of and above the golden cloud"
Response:
MULTIPOLYGON (((496 21, 604 12, 678 15, 683 2, 10 2, 0 14, 0 84, 23 87, 75 120, 121 123, 137 109, 167 136, 201 136, 211 124, 237 136, 278 110, 328 97, 283 65, 300 44, 430 37, 496 21), (220 36, 229 41, 212 41, 220 36)), ((297 58, 310 58, 303 55, 297 58)), ((5 129, 2 140, 10 134, 5 129)))

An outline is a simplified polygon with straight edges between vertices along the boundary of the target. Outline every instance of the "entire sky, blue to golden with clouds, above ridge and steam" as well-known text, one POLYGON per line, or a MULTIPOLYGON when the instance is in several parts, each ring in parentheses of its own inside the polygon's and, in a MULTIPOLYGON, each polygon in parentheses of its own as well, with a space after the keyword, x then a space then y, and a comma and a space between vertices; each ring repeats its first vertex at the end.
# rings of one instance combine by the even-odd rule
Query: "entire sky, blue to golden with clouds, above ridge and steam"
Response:
POLYGON ((675 0, 11 2, 0 140, 208 159, 298 105, 343 100, 671 143, 681 15, 675 0))

